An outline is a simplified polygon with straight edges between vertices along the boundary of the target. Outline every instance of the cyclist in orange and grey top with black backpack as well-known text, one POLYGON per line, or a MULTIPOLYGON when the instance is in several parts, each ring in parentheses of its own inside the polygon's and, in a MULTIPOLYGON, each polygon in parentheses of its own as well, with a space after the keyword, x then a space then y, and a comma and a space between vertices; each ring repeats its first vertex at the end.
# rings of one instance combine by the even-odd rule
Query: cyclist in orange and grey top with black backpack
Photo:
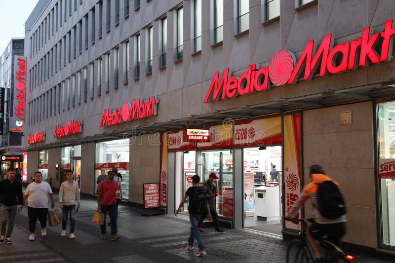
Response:
POLYGON ((322 262, 316 240, 327 235, 328 241, 339 243, 346 233, 346 205, 339 184, 325 175, 320 165, 310 166, 310 178, 312 182, 303 188, 285 220, 292 221, 306 201, 312 199, 316 222, 309 227, 306 234, 316 254, 316 262, 322 262))

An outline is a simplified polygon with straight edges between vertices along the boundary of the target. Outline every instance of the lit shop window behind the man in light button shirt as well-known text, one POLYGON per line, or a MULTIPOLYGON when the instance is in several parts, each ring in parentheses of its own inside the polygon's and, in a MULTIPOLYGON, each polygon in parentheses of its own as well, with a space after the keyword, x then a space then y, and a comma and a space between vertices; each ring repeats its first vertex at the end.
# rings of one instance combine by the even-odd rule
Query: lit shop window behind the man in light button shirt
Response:
POLYGON ((74 172, 74 181, 78 183, 79 189, 81 189, 81 146, 75 145, 62 147, 61 165, 62 172, 60 182, 66 181, 66 171, 72 170, 74 172))

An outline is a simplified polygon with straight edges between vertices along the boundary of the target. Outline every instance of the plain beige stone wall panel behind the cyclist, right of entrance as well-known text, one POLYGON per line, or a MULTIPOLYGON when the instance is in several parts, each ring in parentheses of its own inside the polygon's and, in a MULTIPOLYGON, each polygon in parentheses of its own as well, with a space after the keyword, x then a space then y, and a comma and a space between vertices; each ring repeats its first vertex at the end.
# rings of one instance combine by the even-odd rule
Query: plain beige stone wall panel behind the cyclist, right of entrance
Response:
MULTIPOLYGON (((303 112, 305 184, 309 166, 321 164, 346 199, 347 234, 343 241, 376 247, 376 203, 372 103, 364 102, 303 112), (352 111, 353 125, 339 125, 340 112, 352 111)), ((307 203, 307 216, 311 215, 307 203)))

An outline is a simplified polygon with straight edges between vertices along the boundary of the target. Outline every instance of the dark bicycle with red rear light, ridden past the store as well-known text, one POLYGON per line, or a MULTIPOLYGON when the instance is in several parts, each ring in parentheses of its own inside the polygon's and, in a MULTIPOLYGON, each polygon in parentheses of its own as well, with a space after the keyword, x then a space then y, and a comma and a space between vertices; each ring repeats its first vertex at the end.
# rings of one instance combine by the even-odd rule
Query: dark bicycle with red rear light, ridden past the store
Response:
MULTIPOLYGON (((293 221, 302 223, 302 230, 299 232, 300 236, 291 241, 288 245, 286 262, 287 263, 313 263, 315 262, 314 253, 310 247, 309 240, 306 236, 306 229, 308 222, 314 222, 314 218, 294 218, 293 221)), ((335 244, 321 239, 319 245, 324 249, 325 254, 322 255, 322 261, 328 263, 336 262, 353 262, 355 257, 345 253, 341 248, 335 244)))

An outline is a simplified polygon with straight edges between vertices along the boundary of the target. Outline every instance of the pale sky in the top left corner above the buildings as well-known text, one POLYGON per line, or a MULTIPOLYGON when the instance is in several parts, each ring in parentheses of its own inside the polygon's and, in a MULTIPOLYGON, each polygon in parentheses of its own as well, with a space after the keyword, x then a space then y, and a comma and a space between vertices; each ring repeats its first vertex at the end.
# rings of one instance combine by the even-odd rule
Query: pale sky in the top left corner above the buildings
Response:
POLYGON ((25 37, 25 21, 39 0, 0 0, 0 56, 11 38, 25 37))

